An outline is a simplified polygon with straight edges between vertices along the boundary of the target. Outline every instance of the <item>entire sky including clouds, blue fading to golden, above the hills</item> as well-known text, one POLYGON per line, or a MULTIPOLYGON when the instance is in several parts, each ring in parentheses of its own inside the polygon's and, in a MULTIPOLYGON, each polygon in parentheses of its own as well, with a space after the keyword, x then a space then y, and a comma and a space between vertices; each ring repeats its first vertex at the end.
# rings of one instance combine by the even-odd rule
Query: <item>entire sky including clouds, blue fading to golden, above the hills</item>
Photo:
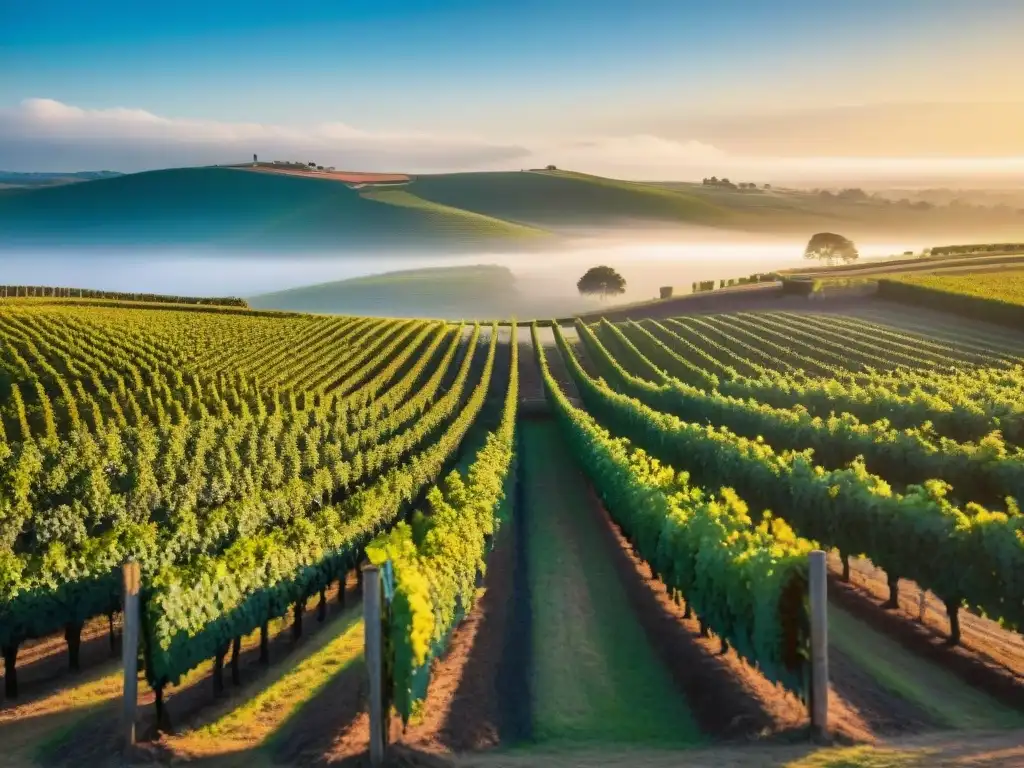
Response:
POLYGON ((0 0, 0 168, 1024 178, 1022 37, 1021 0, 0 0))

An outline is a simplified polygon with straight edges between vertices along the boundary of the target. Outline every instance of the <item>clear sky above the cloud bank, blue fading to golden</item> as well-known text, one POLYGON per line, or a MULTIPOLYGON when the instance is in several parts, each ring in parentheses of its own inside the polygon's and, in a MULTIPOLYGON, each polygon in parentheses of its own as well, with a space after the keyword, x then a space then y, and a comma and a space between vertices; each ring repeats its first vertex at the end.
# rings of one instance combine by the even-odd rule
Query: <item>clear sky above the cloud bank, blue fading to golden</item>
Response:
MULTIPOLYGON (((530 152, 640 135, 744 157, 1024 154, 1006 106, 1024 101, 1022 30, 1020 0, 0 0, 0 167, 17 154, 3 152, 4 121, 26 134, 41 119, 22 114, 26 99, 86 111, 74 130, 93 143, 131 129, 96 115, 132 110, 344 124, 378 148, 421 134, 530 152), (905 128, 922 102, 933 112, 918 141, 905 128), (967 102, 988 111, 977 126, 955 119, 967 102), (827 113, 811 121, 825 126, 837 110, 860 127, 804 135, 808 114, 827 113)), ((75 136, 60 140, 61 157, 88 159, 89 141, 74 155, 75 136)))

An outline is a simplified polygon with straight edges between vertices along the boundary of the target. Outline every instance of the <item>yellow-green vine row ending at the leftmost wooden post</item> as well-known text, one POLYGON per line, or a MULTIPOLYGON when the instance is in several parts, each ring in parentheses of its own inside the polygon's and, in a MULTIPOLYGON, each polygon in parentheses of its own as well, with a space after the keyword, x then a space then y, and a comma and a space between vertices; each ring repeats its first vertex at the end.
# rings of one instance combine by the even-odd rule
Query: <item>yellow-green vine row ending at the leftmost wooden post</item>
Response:
MULTIPOLYGON (((437 420, 416 422, 413 431, 435 434, 429 445, 340 504, 311 504, 305 514, 281 527, 240 539, 216 557, 156 573, 147 590, 143 621, 150 684, 174 684, 231 638, 282 615, 290 604, 304 600, 352 567, 362 547, 408 510, 458 451, 490 384, 497 340, 496 332, 480 380, 462 410, 458 407, 472 361, 469 353, 452 389, 432 410, 445 420, 443 431, 435 434, 437 420)), ((475 341, 474 336, 471 348, 475 341)))

